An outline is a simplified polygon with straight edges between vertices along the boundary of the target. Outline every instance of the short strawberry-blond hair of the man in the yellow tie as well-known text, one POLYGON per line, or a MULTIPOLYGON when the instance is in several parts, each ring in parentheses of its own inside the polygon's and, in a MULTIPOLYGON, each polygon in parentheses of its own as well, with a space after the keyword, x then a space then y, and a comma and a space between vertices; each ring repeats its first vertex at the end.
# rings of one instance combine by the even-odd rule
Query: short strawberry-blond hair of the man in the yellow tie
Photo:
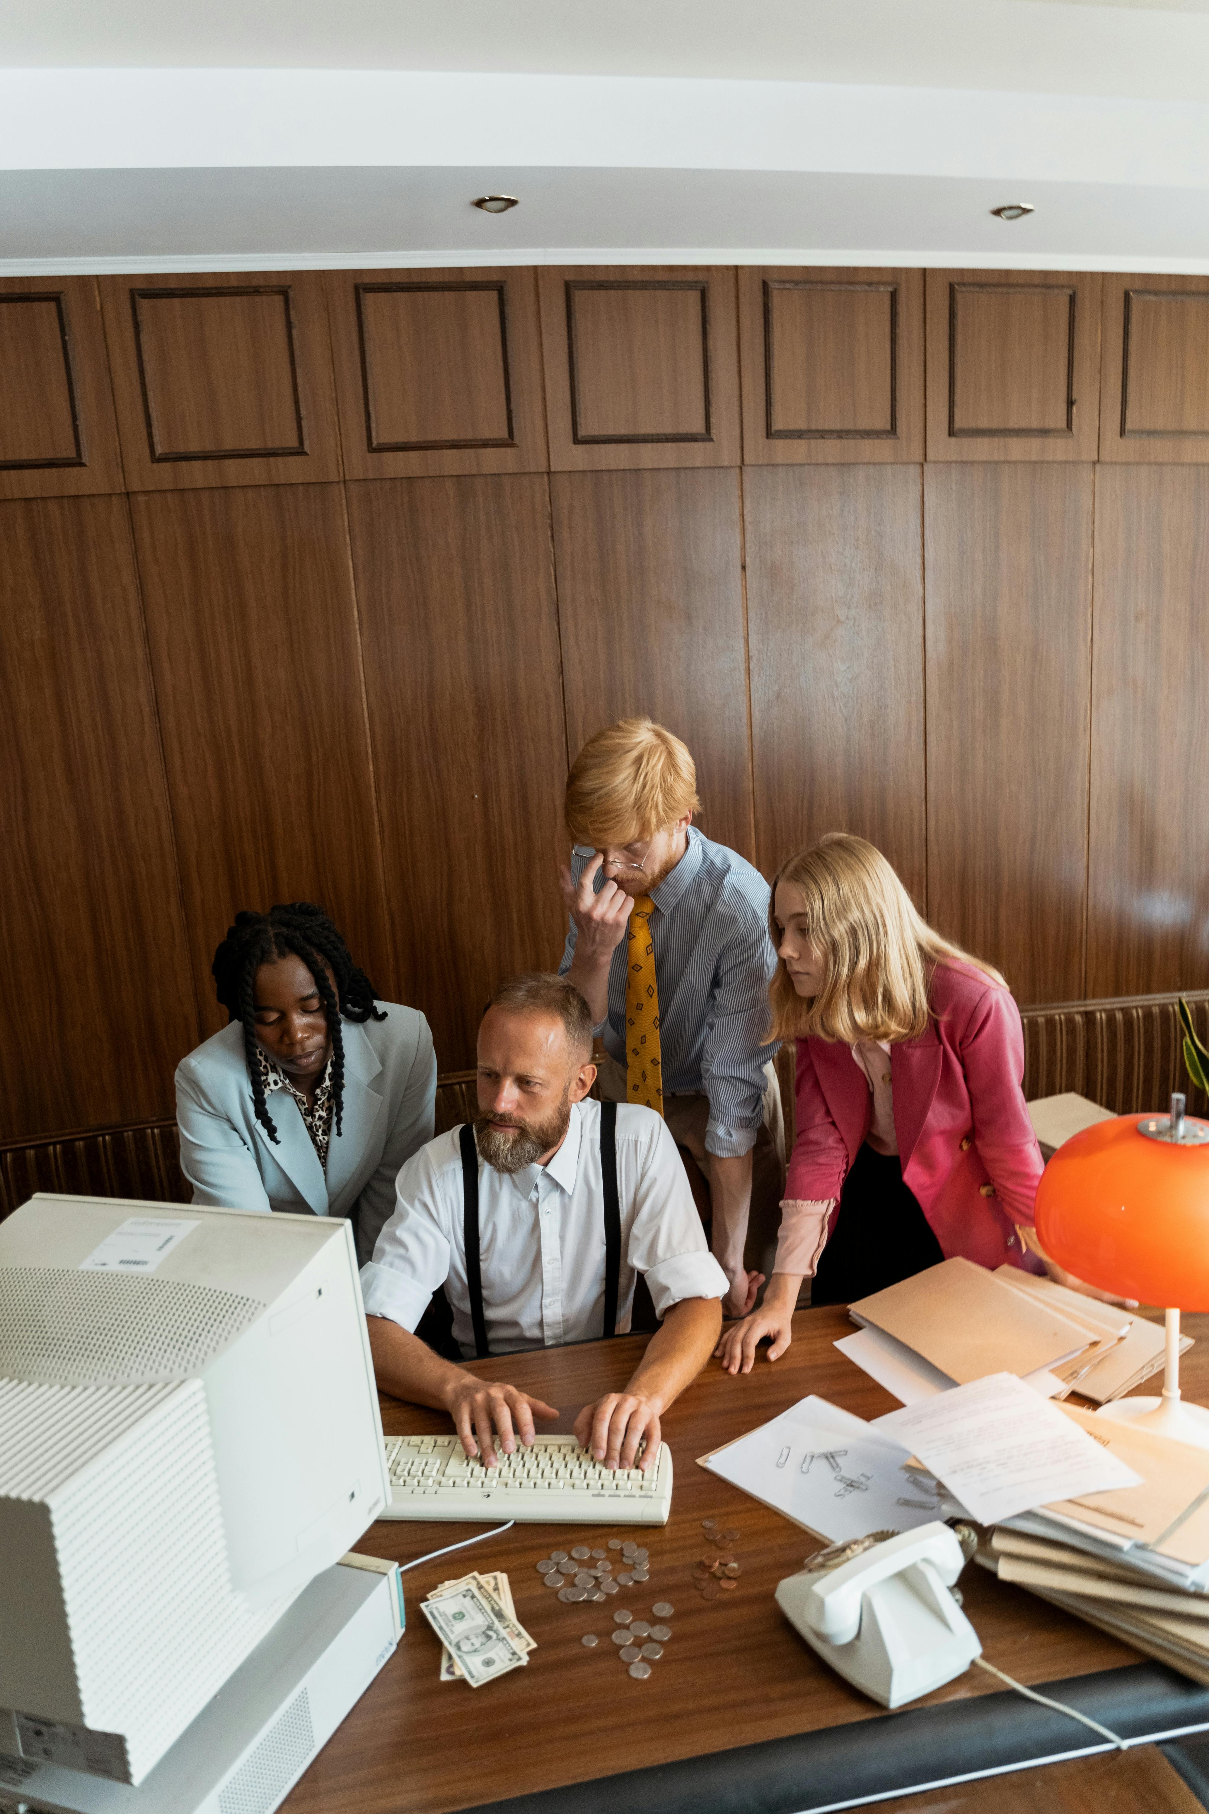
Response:
POLYGON ((698 813, 696 764, 651 718, 620 718, 589 736, 567 775, 564 818, 575 844, 633 844, 698 813))

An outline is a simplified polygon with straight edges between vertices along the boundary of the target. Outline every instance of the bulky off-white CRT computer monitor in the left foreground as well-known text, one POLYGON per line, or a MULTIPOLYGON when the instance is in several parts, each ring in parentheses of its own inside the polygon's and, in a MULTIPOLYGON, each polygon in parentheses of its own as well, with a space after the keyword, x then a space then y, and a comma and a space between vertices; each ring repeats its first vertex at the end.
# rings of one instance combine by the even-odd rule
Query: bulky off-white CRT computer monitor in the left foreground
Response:
POLYGON ((138 1785, 388 1498, 346 1221, 0 1223, 0 1752, 138 1785))

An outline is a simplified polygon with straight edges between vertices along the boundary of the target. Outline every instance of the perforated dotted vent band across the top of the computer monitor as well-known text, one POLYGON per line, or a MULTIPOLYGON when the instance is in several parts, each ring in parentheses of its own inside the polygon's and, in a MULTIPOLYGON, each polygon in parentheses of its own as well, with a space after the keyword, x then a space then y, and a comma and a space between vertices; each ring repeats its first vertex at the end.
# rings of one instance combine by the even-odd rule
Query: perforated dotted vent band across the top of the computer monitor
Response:
POLYGON ((58 1386, 189 1379, 263 1308, 179 1279, 0 1266, 0 1375, 58 1386))

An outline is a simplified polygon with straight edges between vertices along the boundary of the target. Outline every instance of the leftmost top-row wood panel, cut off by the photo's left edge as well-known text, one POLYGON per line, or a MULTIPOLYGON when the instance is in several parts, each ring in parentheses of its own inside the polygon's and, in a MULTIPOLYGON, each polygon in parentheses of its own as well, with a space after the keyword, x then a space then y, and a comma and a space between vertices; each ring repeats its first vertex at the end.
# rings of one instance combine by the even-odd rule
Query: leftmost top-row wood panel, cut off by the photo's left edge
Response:
POLYGON ((0 499, 121 492, 96 281, 0 279, 0 499))

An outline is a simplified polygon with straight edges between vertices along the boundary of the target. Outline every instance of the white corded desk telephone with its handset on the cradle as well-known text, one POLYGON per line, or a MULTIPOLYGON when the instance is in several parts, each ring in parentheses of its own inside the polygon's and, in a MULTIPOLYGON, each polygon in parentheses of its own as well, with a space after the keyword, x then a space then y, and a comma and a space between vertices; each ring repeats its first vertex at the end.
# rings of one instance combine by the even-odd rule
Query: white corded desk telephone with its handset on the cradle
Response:
POLYGON ((901 1707, 962 1674, 982 1651, 950 1593, 962 1567, 950 1527, 924 1524, 837 1569, 790 1575, 776 1602, 846 1682, 901 1707))

